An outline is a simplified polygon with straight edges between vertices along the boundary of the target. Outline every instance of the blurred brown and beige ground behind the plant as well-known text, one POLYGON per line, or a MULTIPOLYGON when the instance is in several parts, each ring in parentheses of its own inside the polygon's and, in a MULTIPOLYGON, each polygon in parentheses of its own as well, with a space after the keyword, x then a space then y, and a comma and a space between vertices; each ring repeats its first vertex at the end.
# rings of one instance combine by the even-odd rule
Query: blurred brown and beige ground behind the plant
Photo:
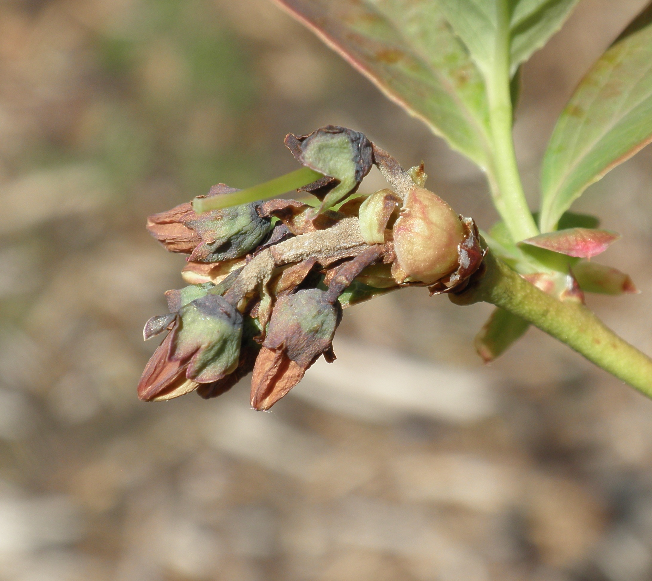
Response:
MULTIPOLYGON (((584 0, 527 63, 537 166, 643 0, 584 0)), ((145 217, 296 168, 288 132, 364 131, 488 228, 484 180, 266 0, 0 3, 0 579, 644 581, 652 402, 537 330, 484 367, 488 306, 409 289, 347 311, 338 361, 273 413, 136 399, 141 328, 183 286, 145 217)), ((652 353, 652 149, 576 204, 623 232, 589 296, 652 353)), ((362 191, 382 180, 371 174, 362 191)))

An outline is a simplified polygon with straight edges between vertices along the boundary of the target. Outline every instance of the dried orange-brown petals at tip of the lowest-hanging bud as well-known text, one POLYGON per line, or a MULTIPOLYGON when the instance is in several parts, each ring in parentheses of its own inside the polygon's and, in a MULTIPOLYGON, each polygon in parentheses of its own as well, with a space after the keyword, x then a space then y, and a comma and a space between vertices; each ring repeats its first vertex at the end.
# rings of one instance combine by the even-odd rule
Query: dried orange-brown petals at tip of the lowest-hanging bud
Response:
POLYGON ((303 379, 305 372, 282 349, 263 347, 251 379, 252 407, 259 411, 269 409, 303 379))

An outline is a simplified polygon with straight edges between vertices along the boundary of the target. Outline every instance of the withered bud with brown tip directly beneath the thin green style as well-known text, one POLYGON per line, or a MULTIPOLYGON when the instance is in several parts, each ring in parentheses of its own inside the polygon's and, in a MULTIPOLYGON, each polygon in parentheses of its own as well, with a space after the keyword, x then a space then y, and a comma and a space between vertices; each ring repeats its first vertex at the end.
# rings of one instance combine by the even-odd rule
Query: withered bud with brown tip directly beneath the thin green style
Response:
MULTIPOLYGON (((218 184, 212 195, 237 191, 218 184)), ((197 214, 189 202, 151 215, 147 229, 171 252, 190 253, 194 262, 220 262, 243 257, 271 230, 271 219, 256 212, 259 204, 241 204, 197 214)))

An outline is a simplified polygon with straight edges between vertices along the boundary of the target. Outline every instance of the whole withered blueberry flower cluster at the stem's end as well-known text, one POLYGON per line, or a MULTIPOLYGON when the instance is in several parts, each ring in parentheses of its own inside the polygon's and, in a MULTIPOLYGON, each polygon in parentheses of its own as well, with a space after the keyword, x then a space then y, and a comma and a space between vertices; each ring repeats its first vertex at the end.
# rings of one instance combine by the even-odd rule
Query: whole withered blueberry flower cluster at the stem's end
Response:
MULTIPOLYGON (((190 255, 188 286, 166 292, 166 333, 138 384, 145 401, 197 391, 213 398, 252 373, 251 404, 269 409, 320 357, 335 360, 342 309, 409 285, 462 291, 482 266, 477 228, 362 133, 327 126, 289 134, 297 161, 322 177, 299 189, 316 203, 271 199, 196 213, 190 203, 149 217, 172 252, 190 255), (389 187, 356 191, 372 165, 389 187)), ((207 197, 237 190, 218 184, 207 197)))

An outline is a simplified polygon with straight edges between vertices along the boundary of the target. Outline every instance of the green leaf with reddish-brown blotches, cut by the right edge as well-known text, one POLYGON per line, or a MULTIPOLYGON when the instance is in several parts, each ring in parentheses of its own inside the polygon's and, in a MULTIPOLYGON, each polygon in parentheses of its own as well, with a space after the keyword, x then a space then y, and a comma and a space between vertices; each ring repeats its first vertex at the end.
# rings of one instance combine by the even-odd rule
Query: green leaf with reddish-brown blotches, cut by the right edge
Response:
MULTIPOLYGON (((563 110, 541 171, 541 231, 584 190, 652 141, 652 23, 637 19, 593 65, 563 110)), ((645 16, 646 13, 642 14, 645 16)))

